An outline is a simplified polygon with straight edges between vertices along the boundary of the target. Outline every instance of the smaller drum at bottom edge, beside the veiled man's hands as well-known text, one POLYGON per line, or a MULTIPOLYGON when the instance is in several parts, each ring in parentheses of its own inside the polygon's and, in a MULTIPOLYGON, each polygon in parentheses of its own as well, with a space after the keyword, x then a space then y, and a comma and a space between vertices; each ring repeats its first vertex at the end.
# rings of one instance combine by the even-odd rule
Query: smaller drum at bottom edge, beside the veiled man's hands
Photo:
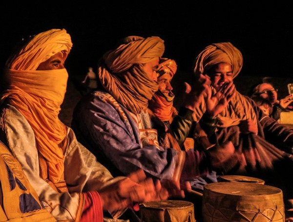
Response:
POLYGON ((139 205, 141 222, 195 222, 193 203, 184 200, 158 200, 139 205))

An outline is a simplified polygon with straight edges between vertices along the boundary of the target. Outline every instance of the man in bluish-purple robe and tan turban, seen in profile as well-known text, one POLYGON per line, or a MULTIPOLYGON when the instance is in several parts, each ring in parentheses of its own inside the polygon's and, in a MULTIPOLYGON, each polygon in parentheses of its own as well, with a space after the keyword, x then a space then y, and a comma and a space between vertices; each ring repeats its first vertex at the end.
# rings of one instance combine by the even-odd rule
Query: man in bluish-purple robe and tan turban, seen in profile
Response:
MULTIPOLYGON (((159 37, 129 36, 116 49, 106 52, 98 64, 101 89, 77 104, 71 126, 79 141, 113 175, 143 169, 165 186, 206 175, 206 163, 211 161, 201 151, 164 149, 157 130, 151 126, 147 106, 159 89, 157 69, 164 50, 164 41, 159 37)), ((170 72, 174 71, 175 63, 167 63, 170 72)), ((171 101, 173 96, 168 93, 167 97, 171 101)))

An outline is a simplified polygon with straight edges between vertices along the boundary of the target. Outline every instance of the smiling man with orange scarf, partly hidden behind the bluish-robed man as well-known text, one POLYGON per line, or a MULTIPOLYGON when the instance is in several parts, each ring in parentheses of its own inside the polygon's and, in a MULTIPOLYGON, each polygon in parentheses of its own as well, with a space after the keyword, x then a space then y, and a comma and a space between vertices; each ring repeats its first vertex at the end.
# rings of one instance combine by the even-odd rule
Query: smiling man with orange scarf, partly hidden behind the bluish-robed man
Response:
MULTIPOLYGON (((148 113, 150 115, 152 128, 158 131, 160 146, 164 149, 172 148, 177 150, 196 149, 192 138, 193 128, 196 125, 192 121, 193 111, 181 107, 178 111, 173 106, 174 94, 172 92, 171 81, 177 71, 174 60, 162 58, 157 70, 159 89, 155 92, 152 99, 148 101, 148 113)), ((200 124, 205 124, 201 122, 200 124)), ((197 126, 199 127, 199 126, 197 126)), ((214 144, 206 140, 206 148, 214 144)), ((207 176, 198 177, 189 181, 192 189, 200 193, 203 186, 209 182, 217 182, 216 174, 210 171, 207 176)))

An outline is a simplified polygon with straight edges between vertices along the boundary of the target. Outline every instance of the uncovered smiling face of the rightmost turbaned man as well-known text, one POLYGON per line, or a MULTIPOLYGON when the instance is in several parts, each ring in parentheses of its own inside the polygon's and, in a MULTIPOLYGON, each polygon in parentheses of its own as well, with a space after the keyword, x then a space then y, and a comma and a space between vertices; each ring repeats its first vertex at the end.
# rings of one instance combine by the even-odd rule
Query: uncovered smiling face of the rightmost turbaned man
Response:
POLYGON ((232 67, 228 63, 218 63, 209 71, 211 85, 218 90, 223 84, 233 82, 232 67))

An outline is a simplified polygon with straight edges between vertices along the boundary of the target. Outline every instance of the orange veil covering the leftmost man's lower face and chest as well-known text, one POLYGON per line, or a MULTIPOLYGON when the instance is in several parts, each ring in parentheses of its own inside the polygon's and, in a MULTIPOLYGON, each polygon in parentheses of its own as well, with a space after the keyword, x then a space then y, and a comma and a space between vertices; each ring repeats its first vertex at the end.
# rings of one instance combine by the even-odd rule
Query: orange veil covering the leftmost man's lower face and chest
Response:
POLYGON ((56 183, 64 170, 66 127, 58 114, 66 91, 67 71, 8 70, 8 73, 10 89, 5 91, 1 100, 7 98, 9 104, 15 106, 31 125, 38 150, 48 161, 49 179, 56 183))

